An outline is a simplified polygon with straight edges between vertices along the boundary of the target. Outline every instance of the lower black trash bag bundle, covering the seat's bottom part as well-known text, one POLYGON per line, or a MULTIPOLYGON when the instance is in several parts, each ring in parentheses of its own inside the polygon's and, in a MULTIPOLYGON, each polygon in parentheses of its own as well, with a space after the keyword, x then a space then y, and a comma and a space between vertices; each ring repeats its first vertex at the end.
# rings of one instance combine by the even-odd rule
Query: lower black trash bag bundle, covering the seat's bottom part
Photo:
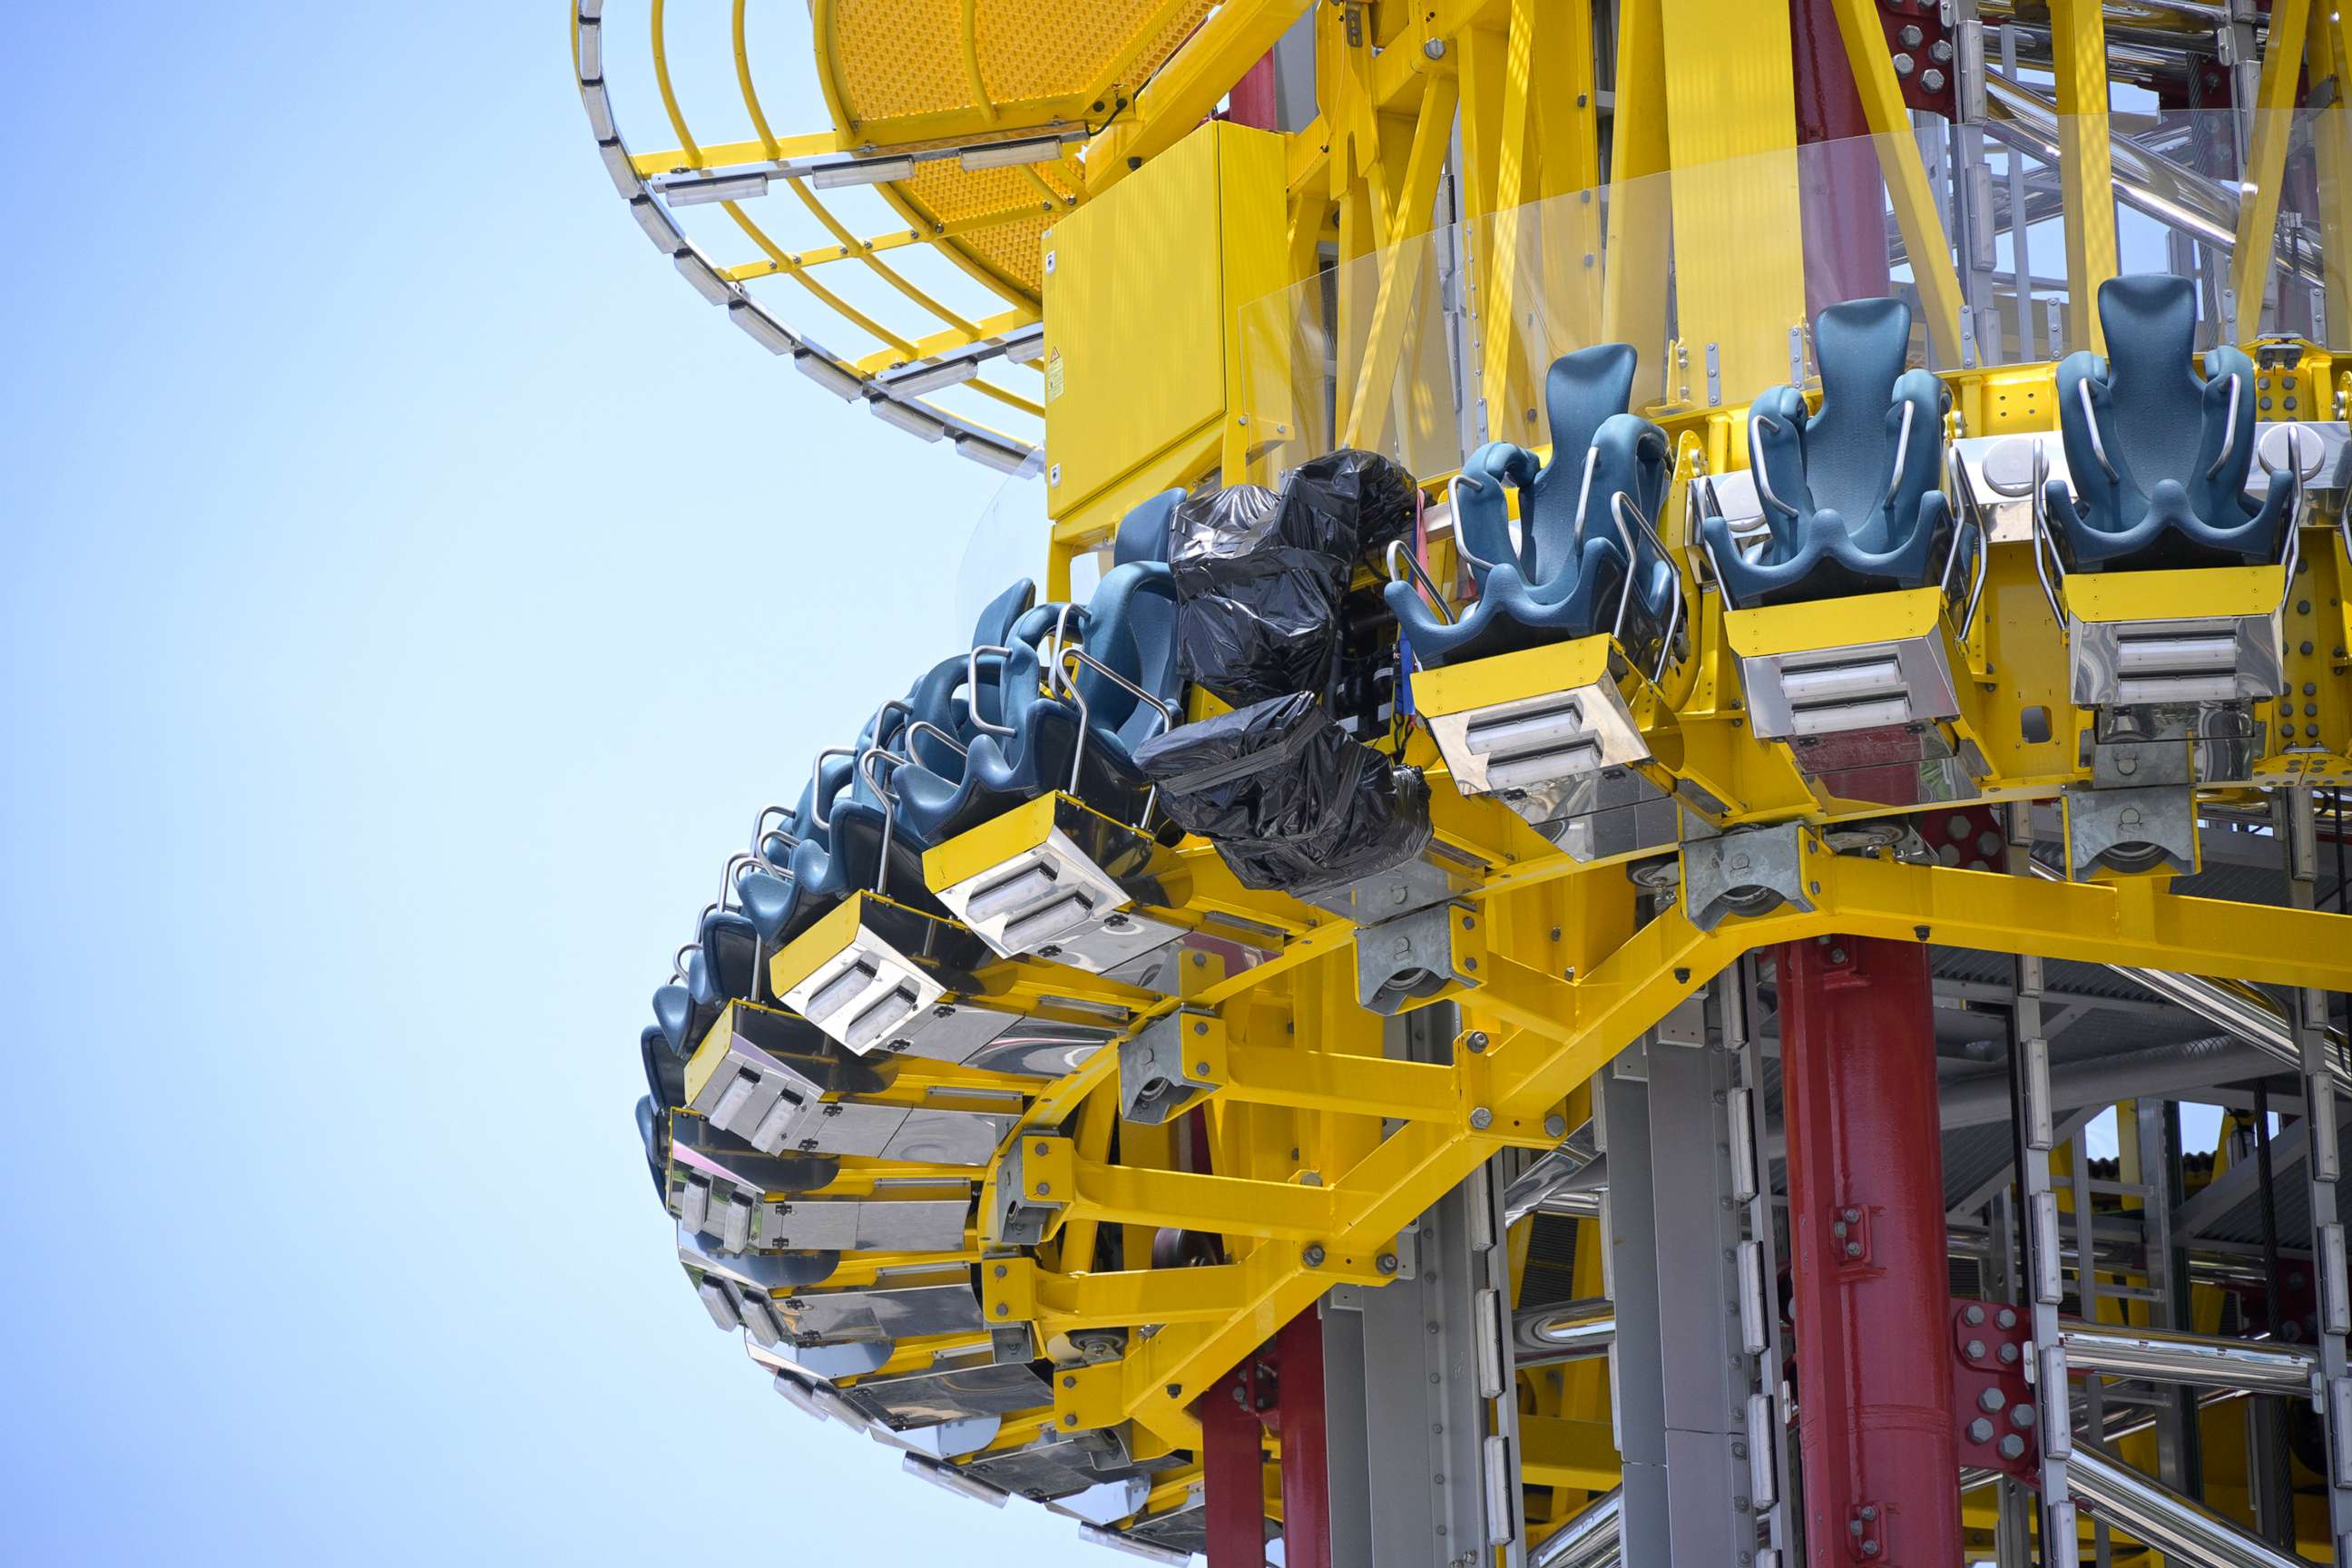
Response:
POLYGON ((1324 893, 1430 842, 1430 792, 1355 741, 1310 691, 1155 736, 1136 752, 1160 809, 1223 856, 1242 886, 1324 893))

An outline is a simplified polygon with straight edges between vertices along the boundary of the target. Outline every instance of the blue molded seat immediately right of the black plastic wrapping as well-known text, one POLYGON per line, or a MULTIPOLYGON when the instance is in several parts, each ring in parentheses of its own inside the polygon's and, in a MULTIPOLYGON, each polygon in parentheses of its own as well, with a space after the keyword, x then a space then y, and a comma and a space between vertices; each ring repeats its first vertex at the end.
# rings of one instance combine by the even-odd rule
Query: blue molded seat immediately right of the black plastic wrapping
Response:
POLYGON ((1621 604, 1628 637, 1665 632, 1682 585, 1653 524, 1672 461, 1665 433, 1625 411, 1637 367, 1628 343, 1559 357, 1543 381, 1552 461, 1538 465, 1522 447, 1489 442, 1463 463, 1454 529, 1475 557, 1477 602, 1446 623, 1411 583, 1385 588, 1421 663, 1465 663, 1618 630, 1621 604), (1519 489, 1517 545, 1505 482, 1519 489))

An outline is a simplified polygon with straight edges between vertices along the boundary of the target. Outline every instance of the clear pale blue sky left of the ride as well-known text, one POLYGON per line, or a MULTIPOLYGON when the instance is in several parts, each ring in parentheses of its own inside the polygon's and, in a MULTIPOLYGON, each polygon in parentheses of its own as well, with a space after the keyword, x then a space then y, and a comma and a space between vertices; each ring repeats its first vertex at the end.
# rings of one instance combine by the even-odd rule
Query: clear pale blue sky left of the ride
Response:
POLYGON ((788 1408, 630 1126, 997 477, 668 273, 555 5, 7 31, 0 1556, 1117 1561, 788 1408))

